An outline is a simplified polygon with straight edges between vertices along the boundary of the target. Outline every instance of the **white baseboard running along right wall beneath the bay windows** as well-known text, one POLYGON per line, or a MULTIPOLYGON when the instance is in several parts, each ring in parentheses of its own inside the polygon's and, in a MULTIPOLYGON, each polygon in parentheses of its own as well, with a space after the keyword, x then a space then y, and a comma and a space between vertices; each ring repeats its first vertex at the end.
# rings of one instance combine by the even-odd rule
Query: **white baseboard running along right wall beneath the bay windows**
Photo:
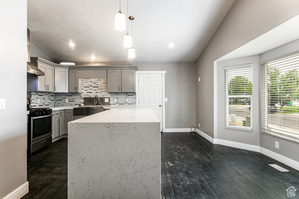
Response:
POLYGON ((213 144, 221 144, 224 146, 231 146, 231 147, 238 148, 238 149, 245 149, 245 150, 249 150, 249 151, 260 152, 270 158, 273 158, 274 160, 280 161, 281 163, 284 163, 294 169, 299 170, 299 162, 292 160, 290 158, 287 158, 278 153, 275 153, 273 151, 270 151, 268 149, 265 149, 263 147, 255 146, 255 145, 251 145, 251 144, 243 144, 243 143, 239 143, 239 142, 232 142, 232 141, 227 141, 227 140, 214 139, 198 129, 196 129, 196 132, 213 144))

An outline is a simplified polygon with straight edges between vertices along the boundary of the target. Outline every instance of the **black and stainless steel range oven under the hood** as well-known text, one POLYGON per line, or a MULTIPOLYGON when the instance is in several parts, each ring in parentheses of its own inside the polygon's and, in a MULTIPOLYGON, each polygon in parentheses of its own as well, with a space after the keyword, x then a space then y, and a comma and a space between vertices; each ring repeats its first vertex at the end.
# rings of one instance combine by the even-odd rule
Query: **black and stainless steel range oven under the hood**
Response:
POLYGON ((31 108, 28 115, 28 153, 52 143, 52 109, 31 108))

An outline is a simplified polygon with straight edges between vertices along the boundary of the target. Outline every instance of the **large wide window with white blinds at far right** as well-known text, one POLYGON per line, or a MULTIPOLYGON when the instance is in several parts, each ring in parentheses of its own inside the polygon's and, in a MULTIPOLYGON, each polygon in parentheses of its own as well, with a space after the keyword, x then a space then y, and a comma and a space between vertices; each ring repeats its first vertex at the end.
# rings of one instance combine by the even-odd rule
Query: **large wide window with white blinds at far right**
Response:
POLYGON ((262 132, 299 142, 299 54, 261 65, 262 132))

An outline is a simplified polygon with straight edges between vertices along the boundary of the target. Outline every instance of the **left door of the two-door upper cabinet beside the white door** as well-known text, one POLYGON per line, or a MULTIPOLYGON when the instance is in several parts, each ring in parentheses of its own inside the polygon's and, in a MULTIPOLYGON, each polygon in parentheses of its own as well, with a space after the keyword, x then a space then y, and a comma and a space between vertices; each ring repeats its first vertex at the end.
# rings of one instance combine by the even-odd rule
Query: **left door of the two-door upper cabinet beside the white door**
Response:
POLYGON ((121 70, 107 70, 107 92, 121 92, 121 70))

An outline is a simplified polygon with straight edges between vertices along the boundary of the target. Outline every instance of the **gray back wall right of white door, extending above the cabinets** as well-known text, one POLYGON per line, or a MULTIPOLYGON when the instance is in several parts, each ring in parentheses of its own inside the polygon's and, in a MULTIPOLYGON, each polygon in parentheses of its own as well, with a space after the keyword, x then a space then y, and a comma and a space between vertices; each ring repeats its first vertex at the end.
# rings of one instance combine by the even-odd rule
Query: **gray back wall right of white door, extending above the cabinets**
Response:
POLYGON ((165 128, 195 126, 195 63, 191 62, 76 62, 76 65, 131 65, 138 71, 166 71, 165 128))

